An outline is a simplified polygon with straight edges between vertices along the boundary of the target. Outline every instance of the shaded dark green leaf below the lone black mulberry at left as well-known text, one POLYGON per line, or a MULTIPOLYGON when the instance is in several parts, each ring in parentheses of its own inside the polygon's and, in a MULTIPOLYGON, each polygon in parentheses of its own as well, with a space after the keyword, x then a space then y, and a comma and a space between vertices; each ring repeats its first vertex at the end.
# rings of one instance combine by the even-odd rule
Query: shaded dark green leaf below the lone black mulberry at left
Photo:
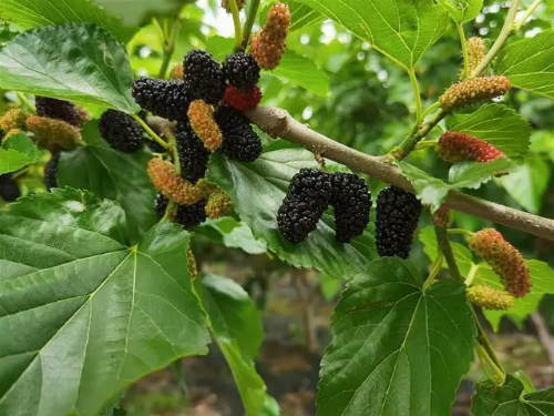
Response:
POLYGON ((85 124, 83 138, 88 145, 62 152, 58 185, 117 201, 127 215, 132 241, 138 241, 158 220, 154 210, 156 191, 146 173, 151 153, 141 150, 127 154, 112 149, 100 136, 98 121, 85 124))

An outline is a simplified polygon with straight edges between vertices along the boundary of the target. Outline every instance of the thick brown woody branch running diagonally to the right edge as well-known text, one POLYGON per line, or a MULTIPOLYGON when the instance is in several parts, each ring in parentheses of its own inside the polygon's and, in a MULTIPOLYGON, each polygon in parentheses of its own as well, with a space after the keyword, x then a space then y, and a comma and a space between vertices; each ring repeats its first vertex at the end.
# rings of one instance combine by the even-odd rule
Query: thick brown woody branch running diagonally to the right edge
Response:
MULTIPOLYGON (((352 171, 367 173, 380 181, 414 192, 410 181, 402 175, 400 169, 388 163, 383 156, 371 156, 326 138, 296 121, 283 109, 257 106, 245 114, 273 138, 283 138, 289 142, 298 143, 320 153, 324 158, 342 163, 352 171)), ((496 224, 554 241, 554 220, 529 214, 454 190, 449 192, 445 205, 496 224)))

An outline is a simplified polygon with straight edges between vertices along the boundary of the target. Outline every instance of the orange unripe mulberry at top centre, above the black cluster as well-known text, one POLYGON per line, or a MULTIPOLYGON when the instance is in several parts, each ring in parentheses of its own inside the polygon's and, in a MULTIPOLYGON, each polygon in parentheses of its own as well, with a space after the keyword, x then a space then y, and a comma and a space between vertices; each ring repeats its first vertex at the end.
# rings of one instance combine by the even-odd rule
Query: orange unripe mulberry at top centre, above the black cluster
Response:
POLYGON ((277 3, 267 14, 264 28, 254 35, 250 53, 265 70, 275 69, 287 49, 287 35, 290 31, 290 10, 287 4, 277 3))

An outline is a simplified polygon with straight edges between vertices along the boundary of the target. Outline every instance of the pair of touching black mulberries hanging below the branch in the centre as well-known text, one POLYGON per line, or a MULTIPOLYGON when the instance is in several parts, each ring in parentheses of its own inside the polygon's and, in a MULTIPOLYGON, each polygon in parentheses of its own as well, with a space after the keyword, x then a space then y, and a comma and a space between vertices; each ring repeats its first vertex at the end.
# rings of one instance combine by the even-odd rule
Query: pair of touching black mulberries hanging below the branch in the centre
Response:
POLYGON ((363 233, 371 210, 366 181, 352 173, 301 169, 290 181, 277 213, 281 235, 291 243, 302 242, 316 230, 329 204, 334 206, 337 241, 348 243, 363 233))

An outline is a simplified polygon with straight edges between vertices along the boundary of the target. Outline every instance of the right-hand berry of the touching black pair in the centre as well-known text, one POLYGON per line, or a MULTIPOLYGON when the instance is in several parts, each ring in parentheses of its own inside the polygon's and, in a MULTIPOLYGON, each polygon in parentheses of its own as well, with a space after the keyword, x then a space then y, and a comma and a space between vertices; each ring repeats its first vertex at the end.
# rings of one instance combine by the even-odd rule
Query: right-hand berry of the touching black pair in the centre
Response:
POLYGON ((336 237, 340 243, 348 243, 363 234, 369 223, 371 193, 366 181, 353 173, 335 173, 331 182, 336 237))

